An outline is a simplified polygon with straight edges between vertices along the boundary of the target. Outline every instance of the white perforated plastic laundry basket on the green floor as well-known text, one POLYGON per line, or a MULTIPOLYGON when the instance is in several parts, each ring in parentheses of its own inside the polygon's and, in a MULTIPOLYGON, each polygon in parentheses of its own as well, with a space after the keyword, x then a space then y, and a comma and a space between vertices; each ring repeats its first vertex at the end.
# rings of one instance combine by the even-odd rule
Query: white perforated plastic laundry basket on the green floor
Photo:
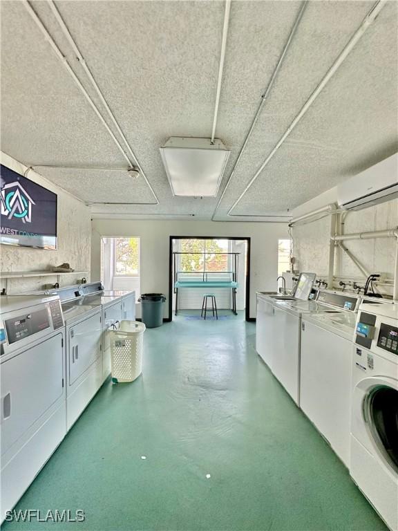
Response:
POLYGON ((133 382, 142 373, 144 331, 144 323, 137 321, 122 321, 117 330, 108 330, 114 383, 133 382))

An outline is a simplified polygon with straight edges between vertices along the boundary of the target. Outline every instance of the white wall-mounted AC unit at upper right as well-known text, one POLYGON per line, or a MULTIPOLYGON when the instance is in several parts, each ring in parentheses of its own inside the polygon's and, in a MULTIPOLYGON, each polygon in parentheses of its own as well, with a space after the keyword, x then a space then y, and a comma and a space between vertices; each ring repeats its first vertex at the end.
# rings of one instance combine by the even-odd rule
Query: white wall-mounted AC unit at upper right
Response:
POLYGON ((337 186, 339 207, 361 210, 398 197, 398 153, 337 186))

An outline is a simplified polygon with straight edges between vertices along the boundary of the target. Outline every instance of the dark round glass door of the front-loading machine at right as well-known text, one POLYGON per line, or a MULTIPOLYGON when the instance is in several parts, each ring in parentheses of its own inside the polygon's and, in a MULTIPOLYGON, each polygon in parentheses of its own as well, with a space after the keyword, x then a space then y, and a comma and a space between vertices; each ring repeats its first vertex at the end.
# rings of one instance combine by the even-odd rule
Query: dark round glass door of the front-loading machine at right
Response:
POLYGON ((398 472, 398 391, 377 386, 368 395, 367 402, 372 436, 388 464, 398 472))

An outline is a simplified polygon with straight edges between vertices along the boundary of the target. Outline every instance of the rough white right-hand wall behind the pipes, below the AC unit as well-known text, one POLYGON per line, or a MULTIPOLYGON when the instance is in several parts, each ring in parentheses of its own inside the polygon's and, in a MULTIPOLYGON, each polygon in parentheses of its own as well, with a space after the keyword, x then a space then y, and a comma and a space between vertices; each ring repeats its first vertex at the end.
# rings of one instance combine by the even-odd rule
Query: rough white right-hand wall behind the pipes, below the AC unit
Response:
MULTIPOLYGON (((332 188, 294 210, 293 217, 318 209, 337 201, 336 188, 332 188)), ((350 211, 345 216, 343 229, 350 232, 392 229, 398 225, 398 200, 381 203, 357 212, 350 211)), ((293 227, 293 254, 295 268, 314 271, 320 276, 328 275, 330 216, 318 221, 293 227)), ((395 262, 395 239, 381 238, 370 240, 345 241, 344 245, 369 272, 383 272, 392 280, 395 262)), ((363 285, 361 274, 352 260, 341 249, 336 252, 334 274, 336 277, 350 277, 363 285)), ((381 286, 380 291, 392 293, 392 288, 381 286)))

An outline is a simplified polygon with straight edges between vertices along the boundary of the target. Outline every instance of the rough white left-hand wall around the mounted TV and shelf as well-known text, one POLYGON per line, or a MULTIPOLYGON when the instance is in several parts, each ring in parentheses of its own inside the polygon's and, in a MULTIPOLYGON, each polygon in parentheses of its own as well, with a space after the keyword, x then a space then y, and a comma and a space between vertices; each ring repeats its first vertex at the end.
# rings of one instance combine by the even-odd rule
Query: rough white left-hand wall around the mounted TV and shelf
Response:
MULTIPOLYGON (((0 151, 1 164, 22 174, 27 167, 0 151)), ((82 201, 77 200, 64 190, 53 185, 35 171, 30 170, 27 177, 35 183, 50 189, 58 195, 57 236, 58 248, 55 251, 21 248, 10 245, 0 246, 0 268, 10 271, 41 271, 54 265, 68 262, 76 271, 87 271, 84 275, 90 279, 91 254, 91 215, 82 201)), ((82 275, 65 275, 61 285, 76 283, 82 275)), ((55 283, 56 277, 32 277, 8 281, 8 293, 38 290, 45 284, 55 283)), ((5 282, 1 281, 1 288, 5 282)))

